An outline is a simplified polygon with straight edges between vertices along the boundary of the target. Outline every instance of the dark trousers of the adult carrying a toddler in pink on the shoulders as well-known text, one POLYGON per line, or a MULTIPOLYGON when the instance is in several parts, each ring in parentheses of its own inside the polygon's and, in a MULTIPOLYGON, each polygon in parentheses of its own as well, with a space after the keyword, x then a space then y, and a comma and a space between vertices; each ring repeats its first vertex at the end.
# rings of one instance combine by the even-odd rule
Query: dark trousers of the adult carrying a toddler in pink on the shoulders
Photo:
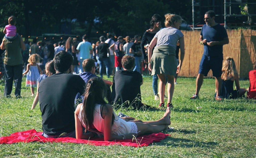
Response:
POLYGON ((5 89, 4 89, 4 96, 11 95, 11 91, 13 89, 13 80, 15 82, 15 92, 14 95, 16 97, 21 95, 21 81, 22 81, 22 69, 23 65, 6 65, 3 64, 5 68, 5 89))

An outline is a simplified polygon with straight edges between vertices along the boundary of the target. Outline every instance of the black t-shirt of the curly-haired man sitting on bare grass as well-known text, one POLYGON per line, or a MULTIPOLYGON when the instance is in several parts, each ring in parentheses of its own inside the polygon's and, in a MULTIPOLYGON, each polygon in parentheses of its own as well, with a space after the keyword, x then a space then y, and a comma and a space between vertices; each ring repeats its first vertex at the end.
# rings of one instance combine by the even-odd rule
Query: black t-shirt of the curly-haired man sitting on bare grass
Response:
POLYGON ((119 105, 125 103, 125 107, 129 107, 129 104, 135 101, 131 106, 141 107, 141 82, 142 76, 137 71, 119 70, 115 72, 112 85, 114 87, 112 93, 115 95, 114 103, 119 105))

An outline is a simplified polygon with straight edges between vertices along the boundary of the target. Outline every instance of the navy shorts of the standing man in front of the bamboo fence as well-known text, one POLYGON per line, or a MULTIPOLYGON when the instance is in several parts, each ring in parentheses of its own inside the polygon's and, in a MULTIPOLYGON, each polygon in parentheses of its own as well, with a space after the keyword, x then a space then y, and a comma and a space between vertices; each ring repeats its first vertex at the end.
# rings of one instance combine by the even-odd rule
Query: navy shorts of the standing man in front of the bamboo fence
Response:
POLYGON ((214 77, 220 77, 222 74, 222 62, 223 56, 207 56, 203 54, 198 73, 207 76, 211 70, 214 77))

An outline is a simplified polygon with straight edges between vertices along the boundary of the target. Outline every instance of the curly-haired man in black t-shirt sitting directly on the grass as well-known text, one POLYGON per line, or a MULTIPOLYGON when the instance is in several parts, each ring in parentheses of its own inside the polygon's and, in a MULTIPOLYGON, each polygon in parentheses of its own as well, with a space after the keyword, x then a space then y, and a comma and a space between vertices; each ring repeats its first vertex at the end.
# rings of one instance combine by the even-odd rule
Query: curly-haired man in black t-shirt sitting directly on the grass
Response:
POLYGON ((125 55, 122 58, 123 70, 118 70, 113 76, 112 98, 114 103, 131 106, 132 108, 140 109, 147 107, 141 103, 141 85, 143 84, 142 75, 138 71, 133 71, 135 58, 130 55, 125 55))

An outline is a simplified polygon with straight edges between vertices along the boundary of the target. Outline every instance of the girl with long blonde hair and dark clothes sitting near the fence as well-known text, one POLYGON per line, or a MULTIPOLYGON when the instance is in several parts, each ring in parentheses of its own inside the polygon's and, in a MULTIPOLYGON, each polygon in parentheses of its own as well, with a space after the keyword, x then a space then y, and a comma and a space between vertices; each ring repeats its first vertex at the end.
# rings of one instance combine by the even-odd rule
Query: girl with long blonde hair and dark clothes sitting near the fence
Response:
POLYGON ((235 99, 242 97, 246 89, 240 88, 239 85, 239 76, 237 69, 235 68, 234 59, 231 56, 227 56, 226 60, 222 65, 222 87, 220 91, 220 96, 227 99, 235 99), (233 89, 233 84, 235 81, 236 90, 233 89))

